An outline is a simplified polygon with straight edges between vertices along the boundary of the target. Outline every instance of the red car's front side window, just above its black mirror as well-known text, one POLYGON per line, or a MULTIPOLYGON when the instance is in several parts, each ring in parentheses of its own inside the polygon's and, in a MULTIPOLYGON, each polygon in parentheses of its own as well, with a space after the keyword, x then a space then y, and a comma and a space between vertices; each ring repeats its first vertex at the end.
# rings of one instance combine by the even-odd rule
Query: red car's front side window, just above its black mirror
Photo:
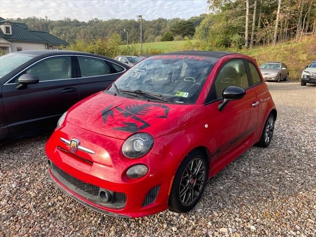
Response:
POLYGON ((249 81, 243 60, 233 60, 224 65, 215 80, 216 99, 222 97, 224 89, 228 86, 238 86, 246 89, 249 81))

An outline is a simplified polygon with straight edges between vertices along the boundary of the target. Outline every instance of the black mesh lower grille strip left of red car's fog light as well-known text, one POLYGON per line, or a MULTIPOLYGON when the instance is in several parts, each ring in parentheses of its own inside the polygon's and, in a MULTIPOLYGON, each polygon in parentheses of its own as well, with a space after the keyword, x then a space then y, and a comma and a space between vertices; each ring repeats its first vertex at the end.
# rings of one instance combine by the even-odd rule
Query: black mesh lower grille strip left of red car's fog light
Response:
POLYGON ((95 186, 93 184, 82 182, 81 180, 75 178, 74 176, 71 176, 70 174, 66 173, 56 165, 54 165, 55 170, 57 173, 63 177, 67 182, 71 183, 72 185, 76 186, 78 189, 91 194, 93 196, 98 197, 100 188, 98 186, 95 186))

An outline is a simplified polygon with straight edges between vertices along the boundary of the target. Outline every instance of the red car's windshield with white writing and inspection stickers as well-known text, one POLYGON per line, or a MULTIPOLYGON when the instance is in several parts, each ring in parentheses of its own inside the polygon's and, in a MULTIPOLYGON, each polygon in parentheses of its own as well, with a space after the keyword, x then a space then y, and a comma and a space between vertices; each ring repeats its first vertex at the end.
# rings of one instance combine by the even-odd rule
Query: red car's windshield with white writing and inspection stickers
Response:
MULTIPOLYGON (((154 56, 131 68, 115 84, 118 90, 141 90, 171 103, 194 104, 217 61, 193 55, 154 56)), ((116 92, 115 86, 109 91, 116 92)))

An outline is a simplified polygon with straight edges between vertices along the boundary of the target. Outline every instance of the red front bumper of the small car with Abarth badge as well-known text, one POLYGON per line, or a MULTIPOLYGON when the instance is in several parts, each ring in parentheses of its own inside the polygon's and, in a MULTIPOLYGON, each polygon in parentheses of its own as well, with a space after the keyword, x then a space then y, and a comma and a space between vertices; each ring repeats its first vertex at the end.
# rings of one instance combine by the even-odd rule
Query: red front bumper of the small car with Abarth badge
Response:
POLYGON ((92 185, 97 188, 97 193, 92 197, 82 192, 84 188, 81 189, 79 186, 74 188, 69 182, 65 182, 52 166, 48 171, 49 177, 64 193, 103 214, 136 218, 165 210, 168 207, 169 187, 172 180, 172 171, 168 170, 170 166, 161 165, 165 164, 162 158, 154 154, 135 160, 122 158, 118 154, 121 143, 122 141, 118 142, 118 139, 83 131, 72 124, 67 124, 65 128, 56 130, 46 143, 47 158, 54 166, 71 176, 71 179, 81 182, 80 187, 92 185), (79 138, 82 142, 80 144, 92 148, 95 154, 89 155, 79 150, 75 154, 71 153, 69 146, 67 147, 60 140, 60 137, 71 139, 67 134, 79 138), (87 142, 91 141, 92 136, 95 147, 87 142), (105 143, 100 144, 103 141, 105 143), (108 160, 101 158, 101 154, 105 153, 104 147, 108 147, 107 152, 110 156, 108 160), (139 179, 129 179, 124 176, 126 169, 136 163, 145 164, 149 168, 148 173, 139 179), (151 192, 154 188, 156 193, 151 192), (98 189, 110 191, 112 194, 125 194, 125 202, 102 202, 98 189))

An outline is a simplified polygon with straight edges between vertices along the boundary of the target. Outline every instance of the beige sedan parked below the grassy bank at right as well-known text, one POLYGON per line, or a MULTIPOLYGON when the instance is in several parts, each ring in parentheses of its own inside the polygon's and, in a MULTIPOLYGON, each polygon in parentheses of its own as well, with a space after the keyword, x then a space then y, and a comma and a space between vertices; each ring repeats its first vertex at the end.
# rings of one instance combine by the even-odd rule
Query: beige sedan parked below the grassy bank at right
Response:
POLYGON ((260 66, 260 71, 265 80, 288 80, 288 68, 285 63, 267 62, 260 66))

